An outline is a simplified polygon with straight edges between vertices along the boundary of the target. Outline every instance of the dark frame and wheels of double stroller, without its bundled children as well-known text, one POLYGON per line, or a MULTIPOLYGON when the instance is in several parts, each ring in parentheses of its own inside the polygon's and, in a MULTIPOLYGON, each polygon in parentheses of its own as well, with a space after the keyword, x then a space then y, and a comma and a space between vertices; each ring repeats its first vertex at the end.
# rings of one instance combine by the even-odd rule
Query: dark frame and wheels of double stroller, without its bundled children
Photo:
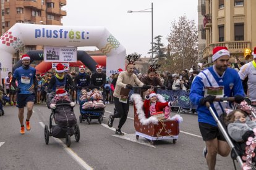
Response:
MULTIPOLYGON (((87 89, 88 89, 88 87, 87 87, 87 89)), ((80 91, 78 91, 77 96, 79 96, 79 109, 80 109, 79 121, 80 121, 80 123, 82 123, 82 121, 87 120, 87 123, 91 124, 92 119, 98 119, 98 122, 101 124, 101 122, 103 121, 103 115, 105 113, 105 108, 83 109, 82 106, 87 101, 80 100, 80 95, 81 95, 80 91)))

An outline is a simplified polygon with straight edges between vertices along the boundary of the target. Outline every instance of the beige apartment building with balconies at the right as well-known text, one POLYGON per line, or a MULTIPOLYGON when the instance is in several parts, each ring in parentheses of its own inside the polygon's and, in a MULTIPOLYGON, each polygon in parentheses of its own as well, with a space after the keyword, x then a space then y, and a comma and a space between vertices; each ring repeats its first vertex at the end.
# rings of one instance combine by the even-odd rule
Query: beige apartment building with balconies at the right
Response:
POLYGON ((213 48, 226 46, 231 52, 231 62, 236 58, 244 60, 244 49, 256 46, 256 1, 202 1, 205 1, 203 29, 206 32, 203 59, 211 63, 213 48))

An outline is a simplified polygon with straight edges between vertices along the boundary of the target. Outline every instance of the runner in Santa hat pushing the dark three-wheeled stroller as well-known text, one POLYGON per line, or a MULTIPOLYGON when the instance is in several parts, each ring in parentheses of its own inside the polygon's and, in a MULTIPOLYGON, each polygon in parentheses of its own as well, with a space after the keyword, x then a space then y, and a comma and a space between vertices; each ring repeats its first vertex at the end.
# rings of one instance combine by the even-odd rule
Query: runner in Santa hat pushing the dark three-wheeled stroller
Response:
POLYGON ((56 75, 52 76, 47 88, 48 92, 54 92, 58 89, 66 89, 68 91, 69 85, 66 76, 64 76, 65 67, 62 63, 56 65, 56 75))

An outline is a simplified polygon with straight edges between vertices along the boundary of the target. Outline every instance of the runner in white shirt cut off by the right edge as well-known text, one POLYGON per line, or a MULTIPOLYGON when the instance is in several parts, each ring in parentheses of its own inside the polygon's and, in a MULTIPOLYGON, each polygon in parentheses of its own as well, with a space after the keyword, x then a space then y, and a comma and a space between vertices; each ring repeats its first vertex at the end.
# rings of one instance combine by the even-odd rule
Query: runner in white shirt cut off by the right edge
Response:
POLYGON ((254 52, 252 53, 252 55, 254 56, 254 60, 243 65, 240 68, 238 75, 240 76, 242 81, 244 81, 245 78, 248 77, 247 97, 251 100, 252 105, 256 105, 256 47, 254 47, 254 52))

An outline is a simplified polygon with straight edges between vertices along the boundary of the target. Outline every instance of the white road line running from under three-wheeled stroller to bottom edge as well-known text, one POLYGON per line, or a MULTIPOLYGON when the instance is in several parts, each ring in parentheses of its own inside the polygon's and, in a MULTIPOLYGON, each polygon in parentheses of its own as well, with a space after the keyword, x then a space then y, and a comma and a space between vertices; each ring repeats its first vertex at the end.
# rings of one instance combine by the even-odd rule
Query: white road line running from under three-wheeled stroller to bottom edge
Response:
MULTIPOLYGON (((40 124, 43 128, 45 128, 45 124, 44 124, 43 122, 40 121, 39 124, 40 124)), ((71 148, 68 148, 68 147, 66 146, 66 144, 64 144, 60 139, 55 138, 55 137, 53 137, 53 139, 54 139, 57 143, 59 143, 60 145, 62 145, 62 147, 64 147, 64 150, 65 150, 75 161, 77 161, 77 163, 79 163, 80 166, 82 166, 84 169, 88 169, 88 170, 92 170, 92 169, 93 169, 93 168, 90 167, 85 161, 83 161, 83 159, 80 158, 80 157, 77 155, 77 153, 75 153, 71 148)))

